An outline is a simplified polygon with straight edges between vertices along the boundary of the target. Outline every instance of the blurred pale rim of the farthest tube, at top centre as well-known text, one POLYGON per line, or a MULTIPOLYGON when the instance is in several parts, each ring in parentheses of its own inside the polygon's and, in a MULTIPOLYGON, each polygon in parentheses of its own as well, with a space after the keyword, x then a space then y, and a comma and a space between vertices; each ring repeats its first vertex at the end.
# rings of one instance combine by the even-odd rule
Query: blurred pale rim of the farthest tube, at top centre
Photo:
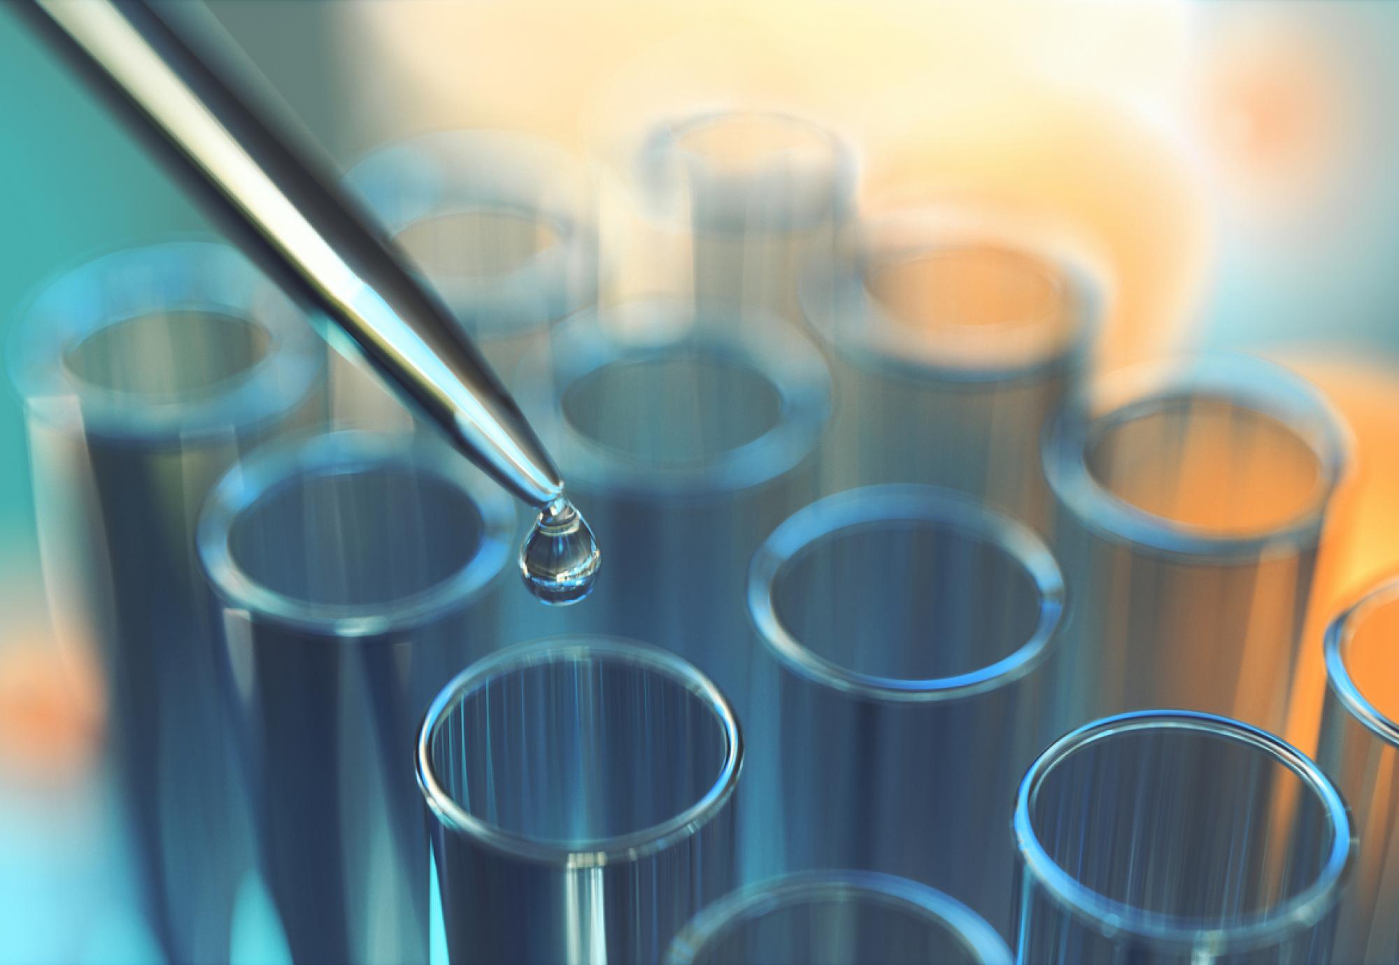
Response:
MULTIPOLYGON (((680 200, 676 185, 680 178, 676 171, 677 162, 690 165, 691 171, 709 171, 708 158, 684 147, 686 136, 736 119, 800 129, 813 138, 813 143, 825 147, 827 164, 818 169, 800 172, 783 169, 781 164, 755 165, 732 173, 711 172, 711 187, 723 190, 726 196, 711 199, 709 224, 702 227, 704 231, 716 234, 741 231, 747 222, 748 197, 769 190, 783 194, 797 193, 788 217, 778 224, 765 225, 774 232, 803 231, 831 220, 839 222, 849 215, 855 208, 859 159, 839 134, 786 110, 716 108, 662 120, 642 141, 635 158, 637 180, 648 194, 652 217, 665 220, 674 215, 672 208, 680 200)), ((793 148, 776 151, 774 161, 792 151, 793 148)))

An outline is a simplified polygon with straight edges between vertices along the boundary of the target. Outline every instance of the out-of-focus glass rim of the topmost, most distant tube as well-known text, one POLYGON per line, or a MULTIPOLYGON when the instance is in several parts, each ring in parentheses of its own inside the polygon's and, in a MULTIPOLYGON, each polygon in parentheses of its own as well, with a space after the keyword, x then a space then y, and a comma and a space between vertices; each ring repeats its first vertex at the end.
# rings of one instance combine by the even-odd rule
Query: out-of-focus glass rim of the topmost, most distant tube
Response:
MULTIPOLYGON (((859 157, 855 148, 841 134, 825 124, 817 123, 800 113, 775 106, 741 106, 715 105, 702 110, 693 110, 680 116, 665 117, 651 124, 642 138, 639 150, 632 159, 632 171, 637 176, 642 194, 642 217, 656 224, 672 221, 679 213, 674 211, 677 185, 681 176, 674 169, 677 162, 702 162, 698 155, 681 145, 681 138, 701 127, 715 124, 733 117, 760 117, 768 122, 792 124, 814 134, 830 148, 830 168, 817 172, 814 178, 807 178, 807 197, 803 199, 802 211, 779 225, 764 225, 769 234, 783 235, 807 231, 818 227, 823 221, 844 221, 855 210, 855 185, 859 172, 859 157), (821 183, 824 182, 824 185, 821 183)), ((790 151, 790 148, 786 148, 790 151)), ((781 154, 781 152, 779 152, 781 154)), ((767 165, 762 169, 746 172, 733 178, 744 185, 743 194, 764 196, 768 192, 790 192, 793 179, 790 171, 781 166, 767 165)), ((746 227, 746 210, 725 211, 715 225, 700 228, 704 236, 718 236, 741 232, 746 227)))

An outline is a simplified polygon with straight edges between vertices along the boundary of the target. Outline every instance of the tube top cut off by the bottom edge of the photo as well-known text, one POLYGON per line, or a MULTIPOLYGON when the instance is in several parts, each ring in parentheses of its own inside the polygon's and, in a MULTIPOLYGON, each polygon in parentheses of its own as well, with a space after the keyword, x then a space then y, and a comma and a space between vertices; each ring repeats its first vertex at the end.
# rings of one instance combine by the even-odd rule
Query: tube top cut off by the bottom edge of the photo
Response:
POLYGON ((663 965, 1010 965, 989 924, 928 885, 870 871, 807 871, 715 902, 663 965))

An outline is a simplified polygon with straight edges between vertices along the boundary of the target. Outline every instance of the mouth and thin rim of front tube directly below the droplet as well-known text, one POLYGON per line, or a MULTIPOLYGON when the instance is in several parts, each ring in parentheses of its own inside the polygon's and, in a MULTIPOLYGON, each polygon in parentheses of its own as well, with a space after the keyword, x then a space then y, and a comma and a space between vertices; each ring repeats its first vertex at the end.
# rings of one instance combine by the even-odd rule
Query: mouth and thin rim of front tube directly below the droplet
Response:
POLYGON ((658 648, 560 638, 508 648, 428 710, 418 780, 449 828, 529 860, 634 862, 690 835, 733 793, 737 719, 658 648))

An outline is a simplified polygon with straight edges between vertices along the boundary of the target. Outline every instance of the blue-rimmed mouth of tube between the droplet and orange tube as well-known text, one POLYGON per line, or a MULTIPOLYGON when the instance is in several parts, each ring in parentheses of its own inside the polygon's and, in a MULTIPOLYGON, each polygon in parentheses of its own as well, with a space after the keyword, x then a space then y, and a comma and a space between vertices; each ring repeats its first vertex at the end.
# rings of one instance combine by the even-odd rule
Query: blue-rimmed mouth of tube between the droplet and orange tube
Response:
POLYGON ((942 699, 1035 667, 1063 583, 1028 530, 957 494, 883 485, 793 516, 754 559, 750 607, 788 666, 839 689, 942 699))

